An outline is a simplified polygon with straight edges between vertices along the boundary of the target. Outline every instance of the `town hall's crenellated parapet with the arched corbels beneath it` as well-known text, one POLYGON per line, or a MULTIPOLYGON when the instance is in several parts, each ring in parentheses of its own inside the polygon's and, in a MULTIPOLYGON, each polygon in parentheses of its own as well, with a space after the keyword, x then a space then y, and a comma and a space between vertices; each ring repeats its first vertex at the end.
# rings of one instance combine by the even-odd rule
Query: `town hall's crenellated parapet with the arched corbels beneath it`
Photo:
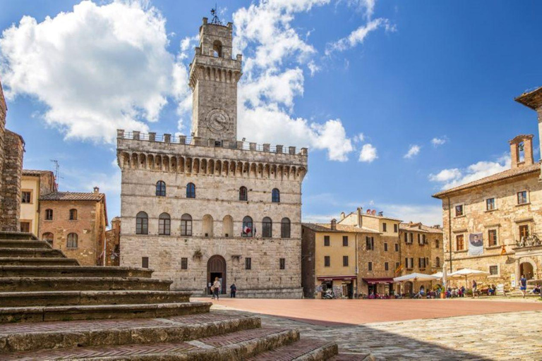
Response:
POLYGON ((307 148, 117 130, 117 161, 123 170, 302 181, 307 159, 307 148))

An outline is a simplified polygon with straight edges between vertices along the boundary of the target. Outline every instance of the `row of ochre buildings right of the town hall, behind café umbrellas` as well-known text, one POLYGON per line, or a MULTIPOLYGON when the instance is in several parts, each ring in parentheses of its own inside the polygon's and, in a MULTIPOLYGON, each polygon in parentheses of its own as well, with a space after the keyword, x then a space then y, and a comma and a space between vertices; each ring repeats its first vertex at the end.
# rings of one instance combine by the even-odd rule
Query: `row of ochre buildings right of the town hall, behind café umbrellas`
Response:
POLYGON ((393 278, 412 272, 432 274, 437 271, 435 259, 442 260, 442 230, 423 224, 402 224, 399 219, 371 210, 362 212, 358 208, 357 212, 348 215, 342 213, 338 222, 333 219, 330 224, 303 224, 302 255, 306 297, 314 297, 321 283, 332 285, 334 290, 349 290, 345 285, 349 285, 350 279, 355 280, 351 287, 354 297, 371 293, 410 294, 414 286, 417 291, 421 286, 430 288, 431 283, 407 283, 402 287, 394 284, 393 278), (411 233, 411 239, 416 242, 411 243, 409 238, 404 243, 405 232, 411 233), (417 242, 418 234, 420 243, 417 242), (347 244, 354 247, 342 246, 344 237, 348 238, 347 244), (422 244, 424 239, 427 243, 422 244), (345 255, 354 259, 357 267, 344 267, 342 257, 345 255), (324 264, 325 257, 330 257, 328 267, 324 264), (413 259, 413 267, 406 267, 405 258, 413 259))

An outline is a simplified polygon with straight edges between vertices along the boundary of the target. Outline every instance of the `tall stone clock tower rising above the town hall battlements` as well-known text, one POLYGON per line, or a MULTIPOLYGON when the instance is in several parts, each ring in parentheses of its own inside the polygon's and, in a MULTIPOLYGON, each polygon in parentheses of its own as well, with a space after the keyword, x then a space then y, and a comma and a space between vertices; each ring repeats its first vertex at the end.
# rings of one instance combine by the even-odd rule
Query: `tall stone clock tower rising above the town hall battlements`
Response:
POLYGON ((232 59, 233 24, 217 20, 200 26, 200 44, 190 64, 192 132, 217 141, 237 140, 237 82, 241 54, 232 59))

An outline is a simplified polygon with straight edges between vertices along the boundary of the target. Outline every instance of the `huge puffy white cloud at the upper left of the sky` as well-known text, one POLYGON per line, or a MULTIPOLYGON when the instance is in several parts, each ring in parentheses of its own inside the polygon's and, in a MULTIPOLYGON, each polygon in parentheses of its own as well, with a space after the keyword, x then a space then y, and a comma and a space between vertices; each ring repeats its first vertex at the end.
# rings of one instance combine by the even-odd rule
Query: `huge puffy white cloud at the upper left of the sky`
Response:
POLYGON ((116 128, 147 130, 171 92, 174 57, 165 19, 138 1, 73 11, 38 23, 24 16, 0 38, 9 97, 47 105, 43 118, 66 137, 112 142, 116 128))

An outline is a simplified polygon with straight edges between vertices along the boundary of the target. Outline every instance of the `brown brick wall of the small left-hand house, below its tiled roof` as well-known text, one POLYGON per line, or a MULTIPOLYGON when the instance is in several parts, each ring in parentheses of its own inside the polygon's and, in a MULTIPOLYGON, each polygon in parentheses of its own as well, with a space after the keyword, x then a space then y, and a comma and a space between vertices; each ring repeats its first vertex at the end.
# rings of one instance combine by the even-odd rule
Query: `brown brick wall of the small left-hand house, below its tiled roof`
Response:
POLYGON ((40 202, 40 237, 50 232, 54 235, 53 247, 62 250, 66 257, 76 258, 80 264, 95 266, 102 263, 102 245, 105 238, 103 203, 95 201, 40 202), (46 209, 53 210, 53 220, 45 219, 46 209), (70 209, 77 209, 77 220, 69 219, 70 209), (78 247, 66 246, 69 233, 78 235, 78 247))

